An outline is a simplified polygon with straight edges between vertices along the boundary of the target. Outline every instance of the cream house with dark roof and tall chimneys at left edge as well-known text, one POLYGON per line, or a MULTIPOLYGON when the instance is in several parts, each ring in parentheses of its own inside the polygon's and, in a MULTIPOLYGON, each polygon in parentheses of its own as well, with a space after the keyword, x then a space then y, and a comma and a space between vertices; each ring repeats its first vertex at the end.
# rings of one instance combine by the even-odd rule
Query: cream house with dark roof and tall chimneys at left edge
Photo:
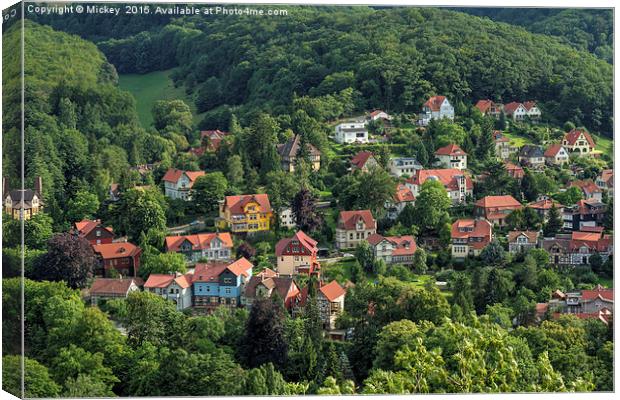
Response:
POLYGON ((4 212, 13 219, 30 219, 43 211, 43 179, 34 180, 33 189, 11 189, 9 180, 2 178, 2 198, 4 212))

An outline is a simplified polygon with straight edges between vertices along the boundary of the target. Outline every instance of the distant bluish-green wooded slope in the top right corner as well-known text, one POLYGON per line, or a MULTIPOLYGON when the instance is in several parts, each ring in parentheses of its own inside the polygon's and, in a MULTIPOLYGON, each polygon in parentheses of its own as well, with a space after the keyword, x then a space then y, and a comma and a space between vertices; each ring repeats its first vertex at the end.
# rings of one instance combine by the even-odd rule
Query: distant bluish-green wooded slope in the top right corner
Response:
POLYGON ((466 13, 524 27, 530 32, 557 36, 579 50, 613 62, 613 13, 600 9, 463 8, 466 13))

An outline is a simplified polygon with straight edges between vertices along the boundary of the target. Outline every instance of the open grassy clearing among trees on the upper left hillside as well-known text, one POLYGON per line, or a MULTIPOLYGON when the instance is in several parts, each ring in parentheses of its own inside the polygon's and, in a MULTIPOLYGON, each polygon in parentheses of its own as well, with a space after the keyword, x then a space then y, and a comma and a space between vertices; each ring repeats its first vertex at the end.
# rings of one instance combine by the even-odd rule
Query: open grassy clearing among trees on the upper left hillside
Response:
POLYGON ((155 71, 148 74, 119 75, 121 89, 127 90, 136 98, 136 108, 142 126, 149 127, 153 122, 151 109, 157 100, 181 99, 189 105, 196 118, 196 107, 192 99, 185 94, 185 89, 175 88, 170 74, 172 70, 155 71))

